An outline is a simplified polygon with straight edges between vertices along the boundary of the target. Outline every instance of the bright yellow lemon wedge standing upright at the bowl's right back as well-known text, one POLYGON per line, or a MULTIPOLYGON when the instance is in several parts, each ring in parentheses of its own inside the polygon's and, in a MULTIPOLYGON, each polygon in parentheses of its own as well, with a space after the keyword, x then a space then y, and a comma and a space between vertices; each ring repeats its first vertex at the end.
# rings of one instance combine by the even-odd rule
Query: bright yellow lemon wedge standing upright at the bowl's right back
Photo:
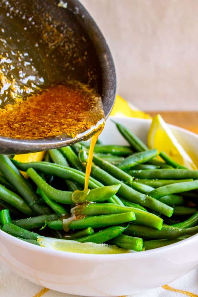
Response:
POLYGON ((163 150, 179 164, 182 164, 189 169, 196 170, 196 165, 193 163, 191 157, 176 140, 161 115, 156 115, 153 118, 147 142, 150 149, 157 148, 159 152, 163 150))

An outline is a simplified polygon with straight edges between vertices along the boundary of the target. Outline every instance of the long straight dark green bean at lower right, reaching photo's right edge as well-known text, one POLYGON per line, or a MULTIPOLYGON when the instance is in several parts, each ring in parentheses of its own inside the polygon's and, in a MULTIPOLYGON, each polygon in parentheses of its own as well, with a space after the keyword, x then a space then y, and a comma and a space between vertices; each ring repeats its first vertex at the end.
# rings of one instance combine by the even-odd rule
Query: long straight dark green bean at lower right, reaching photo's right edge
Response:
POLYGON ((129 224, 125 230, 125 234, 130 236, 137 236, 151 239, 175 239, 180 236, 193 235, 198 232, 198 226, 192 228, 177 228, 168 225, 163 225, 161 230, 157 230, 147 226, 140 226, 136 224, 129 224))

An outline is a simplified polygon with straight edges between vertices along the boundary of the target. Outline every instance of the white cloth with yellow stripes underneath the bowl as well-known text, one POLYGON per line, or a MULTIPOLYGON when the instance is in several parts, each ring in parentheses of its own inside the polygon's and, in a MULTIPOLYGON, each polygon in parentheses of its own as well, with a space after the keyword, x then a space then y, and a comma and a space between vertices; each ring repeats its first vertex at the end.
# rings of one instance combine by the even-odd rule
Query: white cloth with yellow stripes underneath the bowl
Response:
MULTIPOLYGON (((60 293, 19 277, 7 267, 0 264, 0 297, 80 297, 60 293)), ((144 293, 130 295, 133 297, 198 297, 198 267, 168 285, 144 293)), ((125 296, 120 296, 125 297, 125 296)), ((127 296, 128 297, 128 296, 127 296)))

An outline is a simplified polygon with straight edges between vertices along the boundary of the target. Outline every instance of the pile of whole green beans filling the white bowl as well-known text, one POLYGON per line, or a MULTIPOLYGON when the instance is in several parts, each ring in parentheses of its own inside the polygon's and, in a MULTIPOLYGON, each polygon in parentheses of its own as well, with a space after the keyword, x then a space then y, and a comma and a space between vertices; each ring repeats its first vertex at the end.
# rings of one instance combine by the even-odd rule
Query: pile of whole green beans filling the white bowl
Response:
POLYGON ((136 252, 195 235, 198 171, 115 124, 129 145, 97 142, 86 191, 87 142, 49 150, 41 162, 0 155, 1 229, 35 245, 37 236, 51 234, 136 252))

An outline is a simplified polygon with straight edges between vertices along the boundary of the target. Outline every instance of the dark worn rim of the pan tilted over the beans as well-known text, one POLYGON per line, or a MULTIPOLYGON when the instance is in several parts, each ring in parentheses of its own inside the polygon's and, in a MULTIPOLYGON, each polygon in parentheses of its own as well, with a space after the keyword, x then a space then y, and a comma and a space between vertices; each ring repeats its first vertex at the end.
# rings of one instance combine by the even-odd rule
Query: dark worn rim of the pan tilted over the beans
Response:
MULTIPOLYGON (((80 1, 68 0, 67 2, 67 9, 73 12, 77 21, 80 23, 80 25, 83 26, 84 30, 90 37, 90 40, 93 43, 94 48, 96 50, 102 73, 101 97, 102 99, 105 98, 106 105, 103 106, 103 109, 105 119, 107 119, 115 102, 117 87, 115 65, 111 55, 111 51, 101 30, 99 29, 99 27, 97 26, 96 22, 89 14, 87 9, 80 3, 80 1), (76 13, 76 7, 78 7, 78 13, 76 13)), ((56 0, 54 0, 54 3, 55 5, 57 5, 56 0)), ((42 139, 18 139, 0 136, 0 148, 9 148, 10 151, 6 149, 6 154, 23 154, 27 152, 31 153, 41 150, 63 147, 66 145, 72 145, 78 141, 82 141, 86 137, 90 138, 92 134, 94 134, 94 129, 90 129, 83 133, 80 133, 78 136, 74 138, 68 136, 65 138, 63 137, 62 139, 59 139, 58 137, 49 137, 42 139)))

